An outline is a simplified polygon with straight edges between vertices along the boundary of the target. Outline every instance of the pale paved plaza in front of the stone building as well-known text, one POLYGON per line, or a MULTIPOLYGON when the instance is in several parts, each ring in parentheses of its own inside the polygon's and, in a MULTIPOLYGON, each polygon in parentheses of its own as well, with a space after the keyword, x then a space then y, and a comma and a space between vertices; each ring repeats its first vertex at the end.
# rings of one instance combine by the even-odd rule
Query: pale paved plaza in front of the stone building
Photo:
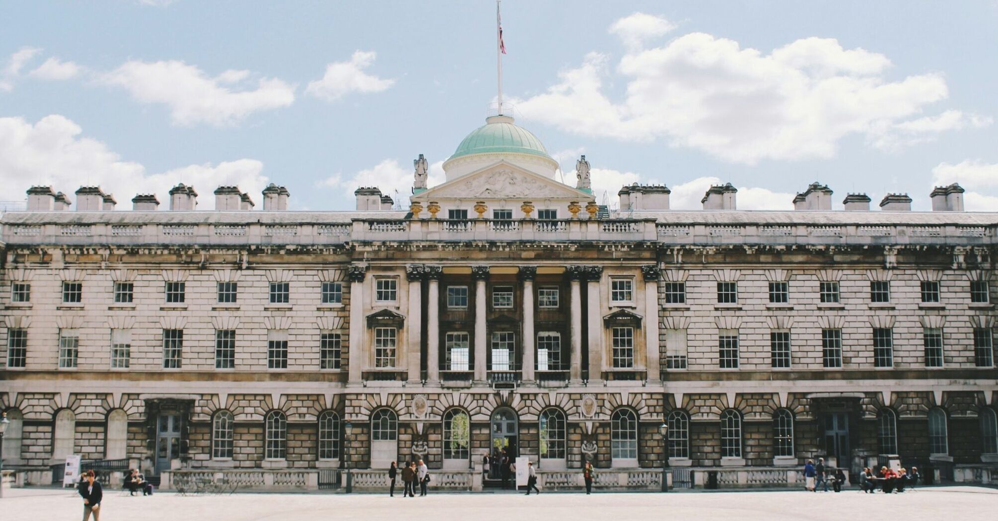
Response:
MULTIPOLYGON (((486 512, 502 519, 546 521, 594 519, 692 519, 697 521, 840 521, 842 519, 938 520, 958 513, 961 519, 994 519, 998 490, 977 487, 925 488, 892 495, 854 490, 711 493, 547 493, 524 497, 512 493, 431 494, 425 498, 388 498, 370 494, 234 494, 153 497, 105 493, 103 521, 277 519, 475 519, 486 512), (735 519, 737 516, 737 519, 735 519)), ((5 491, 0 500, 5 521, 77 519, 81 501, 69 490, 5 491)))

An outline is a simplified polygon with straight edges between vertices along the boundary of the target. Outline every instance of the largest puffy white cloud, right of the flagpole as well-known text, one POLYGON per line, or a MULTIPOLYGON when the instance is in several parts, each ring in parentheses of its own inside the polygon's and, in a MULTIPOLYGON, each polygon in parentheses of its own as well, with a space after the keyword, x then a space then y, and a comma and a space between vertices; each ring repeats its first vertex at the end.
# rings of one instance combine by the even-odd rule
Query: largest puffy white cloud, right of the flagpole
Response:
POLYGON ((607 55, 590 53, 545 93, 513 103, 565 132, 665 139, 729 162, 830 158, 842 138, 875 140, 898 124, 901 132, 903 122, 948 96, 941 75, 890 80, 889 66, 881 54, 843 49, 834 39, 796 40, 763 54, 691 33, 630 48, 613 75, 607 55), (621 100, 607 95, 607 80, 626 83, 621 100))

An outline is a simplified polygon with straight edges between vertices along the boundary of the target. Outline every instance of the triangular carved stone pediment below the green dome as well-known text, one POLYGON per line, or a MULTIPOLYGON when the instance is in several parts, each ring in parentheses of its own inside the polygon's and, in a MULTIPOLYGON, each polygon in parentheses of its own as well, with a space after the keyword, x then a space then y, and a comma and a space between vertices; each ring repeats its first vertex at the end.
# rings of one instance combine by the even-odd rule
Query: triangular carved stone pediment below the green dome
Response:
POLYGON ((477 172, 450 180, 443 185, 437 185, 411 199, 424 202, 453 199, 526 201, 565 199, 585 203, 592 201, 593 196, 521 169, 516 165, 500 161, 477 172))

